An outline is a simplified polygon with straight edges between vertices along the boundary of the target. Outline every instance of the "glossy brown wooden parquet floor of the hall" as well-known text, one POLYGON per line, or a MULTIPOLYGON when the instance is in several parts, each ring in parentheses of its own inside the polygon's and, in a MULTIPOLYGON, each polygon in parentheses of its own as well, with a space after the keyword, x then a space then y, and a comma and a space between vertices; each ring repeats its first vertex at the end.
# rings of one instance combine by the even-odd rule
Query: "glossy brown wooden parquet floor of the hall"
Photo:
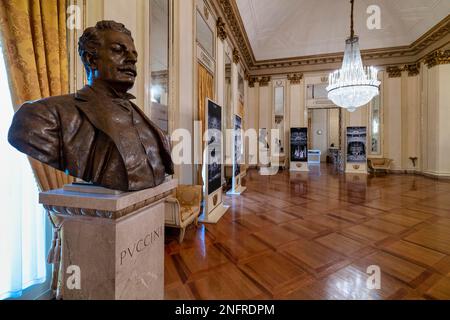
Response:
POLYGON ((166 299, 450 299, 450 183, 322 166, 245 184, 217 225, 166 231, 166 299))

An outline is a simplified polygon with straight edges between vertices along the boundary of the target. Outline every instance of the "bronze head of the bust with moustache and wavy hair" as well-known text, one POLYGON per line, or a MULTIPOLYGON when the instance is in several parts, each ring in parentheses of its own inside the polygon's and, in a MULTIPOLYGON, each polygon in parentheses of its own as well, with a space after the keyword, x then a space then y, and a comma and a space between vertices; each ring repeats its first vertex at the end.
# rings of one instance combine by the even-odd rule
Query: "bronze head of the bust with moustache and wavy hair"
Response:
POLYGON ((78 42, 78 52, 90 85, 103 82, 119 92, 133 87, 137 51, 131 32, 123 24, 99 21, 87 28, 78 42))

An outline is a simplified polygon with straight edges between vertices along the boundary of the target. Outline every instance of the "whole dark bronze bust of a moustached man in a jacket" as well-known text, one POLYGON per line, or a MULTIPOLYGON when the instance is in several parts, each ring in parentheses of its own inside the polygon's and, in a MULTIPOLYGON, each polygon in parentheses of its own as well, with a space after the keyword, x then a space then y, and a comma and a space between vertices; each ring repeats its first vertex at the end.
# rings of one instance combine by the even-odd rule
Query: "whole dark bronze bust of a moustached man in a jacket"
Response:
POLYGON ((88 85, 75 94, 25 103, 9 143, 53 168, 95 185, 138 191, 173 174, 170 141, 130 101, 137 52, 123 24, 100 21, 84 31, 79 54, 88 85))

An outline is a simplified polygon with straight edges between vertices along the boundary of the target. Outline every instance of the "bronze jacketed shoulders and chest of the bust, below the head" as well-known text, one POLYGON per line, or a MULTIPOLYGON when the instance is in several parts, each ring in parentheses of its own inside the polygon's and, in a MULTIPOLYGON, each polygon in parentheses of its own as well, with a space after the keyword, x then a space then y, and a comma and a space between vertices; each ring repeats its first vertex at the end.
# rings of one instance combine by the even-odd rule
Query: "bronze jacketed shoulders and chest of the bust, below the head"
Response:
POLYGON ((8 140, 84 181, 122 191, 155 187, 173 174, 170 142, 131 97, 86 86, 76 94, 25 103, 14 115, 8 140))

